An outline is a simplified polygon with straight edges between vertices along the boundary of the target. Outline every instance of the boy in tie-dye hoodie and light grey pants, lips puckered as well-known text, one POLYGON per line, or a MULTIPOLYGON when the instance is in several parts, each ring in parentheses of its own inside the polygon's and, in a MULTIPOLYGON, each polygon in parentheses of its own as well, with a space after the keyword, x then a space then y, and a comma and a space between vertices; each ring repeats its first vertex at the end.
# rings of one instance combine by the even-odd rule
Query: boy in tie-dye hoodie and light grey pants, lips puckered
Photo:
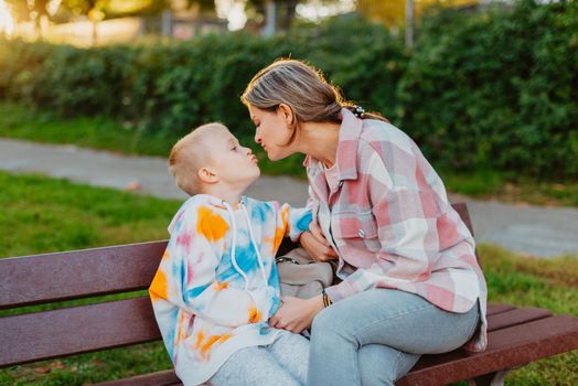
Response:
POLYGON ((184 385, 304 384, 307 339, 268 319, 280 303, 275 254, 311 213, 242 196, 260 174, 257 158, 221 124, 178 141, 169 163, 191 197, 169 225, 149 293, 176 375, 184 385))

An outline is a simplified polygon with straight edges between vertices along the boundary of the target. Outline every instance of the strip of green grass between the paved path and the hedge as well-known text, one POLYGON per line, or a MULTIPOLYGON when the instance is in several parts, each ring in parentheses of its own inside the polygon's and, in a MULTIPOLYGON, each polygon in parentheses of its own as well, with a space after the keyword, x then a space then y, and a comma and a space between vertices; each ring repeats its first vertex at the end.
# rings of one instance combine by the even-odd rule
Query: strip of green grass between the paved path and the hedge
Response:
MULTIPOLYGON (((167 157, 178 138, 143 132, 109 118, 58 118, 21 104, 0 101, 0 137, 47 143, 68 143, 125 154, 167 157)), ((239 138, 253 149, 264 174, 304 179, 303 156, 271 162, 253 138, 239 138)), ((578 207, 578 181, 537 182, 512 173, 480 170, 471 173, 440 172, 448 191, 477 199, 534 205, 578 207)))

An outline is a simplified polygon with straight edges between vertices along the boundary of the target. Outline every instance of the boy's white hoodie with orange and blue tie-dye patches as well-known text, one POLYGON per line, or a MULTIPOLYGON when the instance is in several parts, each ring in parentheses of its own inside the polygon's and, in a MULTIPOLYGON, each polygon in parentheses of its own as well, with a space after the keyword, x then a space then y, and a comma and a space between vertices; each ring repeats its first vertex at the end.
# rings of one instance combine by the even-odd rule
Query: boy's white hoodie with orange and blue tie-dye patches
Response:
POLYGON ((306 208, 247 197, 232 207, 206 194, 176 212, 149 293, 184 385, 208 380, 239 349, 275 341, 279 330, 267 323, 279 307, 275 254, 310 222, 306 208))

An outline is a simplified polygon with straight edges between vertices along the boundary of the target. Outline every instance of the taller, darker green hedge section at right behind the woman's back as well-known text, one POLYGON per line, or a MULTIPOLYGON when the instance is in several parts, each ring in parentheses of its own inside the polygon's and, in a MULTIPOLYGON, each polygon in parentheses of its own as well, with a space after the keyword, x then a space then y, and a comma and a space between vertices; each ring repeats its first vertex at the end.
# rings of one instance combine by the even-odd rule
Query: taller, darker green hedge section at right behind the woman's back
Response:
POLYGON ((523 1, 424 26, 399 122, 451 169, 578 175, 578 4, 523 1))

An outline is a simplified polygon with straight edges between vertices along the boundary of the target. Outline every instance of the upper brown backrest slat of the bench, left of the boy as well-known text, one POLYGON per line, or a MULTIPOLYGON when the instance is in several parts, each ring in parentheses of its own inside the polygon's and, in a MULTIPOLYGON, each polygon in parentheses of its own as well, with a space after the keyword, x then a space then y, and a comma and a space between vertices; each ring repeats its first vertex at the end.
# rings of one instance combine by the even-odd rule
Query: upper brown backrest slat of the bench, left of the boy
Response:
POLYGON ((0 309, 147 288, 167 242, 0 260, 0 309))

